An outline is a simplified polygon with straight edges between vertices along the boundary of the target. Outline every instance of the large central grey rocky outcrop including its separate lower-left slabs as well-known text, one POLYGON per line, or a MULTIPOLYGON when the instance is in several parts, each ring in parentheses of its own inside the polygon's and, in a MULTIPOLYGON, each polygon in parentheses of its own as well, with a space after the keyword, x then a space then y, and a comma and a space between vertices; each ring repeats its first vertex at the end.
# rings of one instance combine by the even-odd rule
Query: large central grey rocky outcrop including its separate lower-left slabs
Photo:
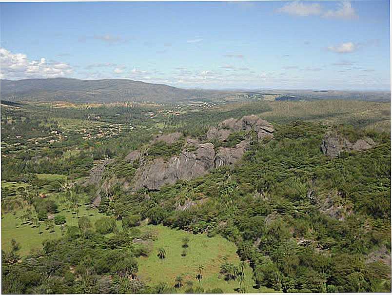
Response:
MULTIPOLYGON (((159 190, 163 185, 174 184, 177 180, 190 180, 208 173, 211 169, 222 165, 232 165, 240 160, 250 145, 249 131, 255 131, 257 139, 273 137, 274 127, 267 121, 251 115, 240 119, 230 118, 221 122, 217 127, 211 128, 204 141, 216 141, 226 146, 214 147, 211 142, 200 142, 198 138, 184 138, 181 132, 158 135, 151 144, 163 141, 168 145, 178 143, 181 140, 181 151, 178 155, 169 158, 153 158, 148 155, 149 149, 132 151, 125 160, 129 163, 139 161, 137 172, 131 182, 124 183, 124 186, 134 188, 147 188, 148 190, 159 190), (231 134, 245 131, 245 139, 237 143, 234 147, 228 142, 231 134), (230 146, 230 147, 229 147, 230 146)), ((230 139, 231 140, 231 139, 230 139)), ((97 197, 93 200, 93 206, 98 206, 101 200, 99 193, 110 187, 110 179, 106 179, 101 184, 103 171, 106 165, 113 160, 106 160, 90 171, 90 177, 85 184, 96 184, 97 197)), ((118 179, 116 179, 118 181, 118 179)))

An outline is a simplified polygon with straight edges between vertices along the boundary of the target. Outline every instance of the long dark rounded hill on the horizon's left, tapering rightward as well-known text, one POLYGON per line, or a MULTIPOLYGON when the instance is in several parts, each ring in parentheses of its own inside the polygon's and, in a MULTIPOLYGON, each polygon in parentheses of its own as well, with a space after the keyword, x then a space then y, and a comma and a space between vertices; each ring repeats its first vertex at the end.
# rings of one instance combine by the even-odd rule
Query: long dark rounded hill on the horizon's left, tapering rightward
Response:
POLYGON ((1 99, 9 101, 216 101, 232 94, 229 91, 182 89, 127 79, 1 79, 1 99))

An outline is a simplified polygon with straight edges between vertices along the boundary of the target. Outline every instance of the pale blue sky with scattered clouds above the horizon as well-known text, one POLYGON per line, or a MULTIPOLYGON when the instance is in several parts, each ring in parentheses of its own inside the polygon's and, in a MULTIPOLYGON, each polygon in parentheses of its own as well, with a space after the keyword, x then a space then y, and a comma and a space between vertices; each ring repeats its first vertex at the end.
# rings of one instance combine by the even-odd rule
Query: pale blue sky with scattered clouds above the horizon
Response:
POLYGON ((0 3, 1 79, 390 91, 390 3, 0 3))

